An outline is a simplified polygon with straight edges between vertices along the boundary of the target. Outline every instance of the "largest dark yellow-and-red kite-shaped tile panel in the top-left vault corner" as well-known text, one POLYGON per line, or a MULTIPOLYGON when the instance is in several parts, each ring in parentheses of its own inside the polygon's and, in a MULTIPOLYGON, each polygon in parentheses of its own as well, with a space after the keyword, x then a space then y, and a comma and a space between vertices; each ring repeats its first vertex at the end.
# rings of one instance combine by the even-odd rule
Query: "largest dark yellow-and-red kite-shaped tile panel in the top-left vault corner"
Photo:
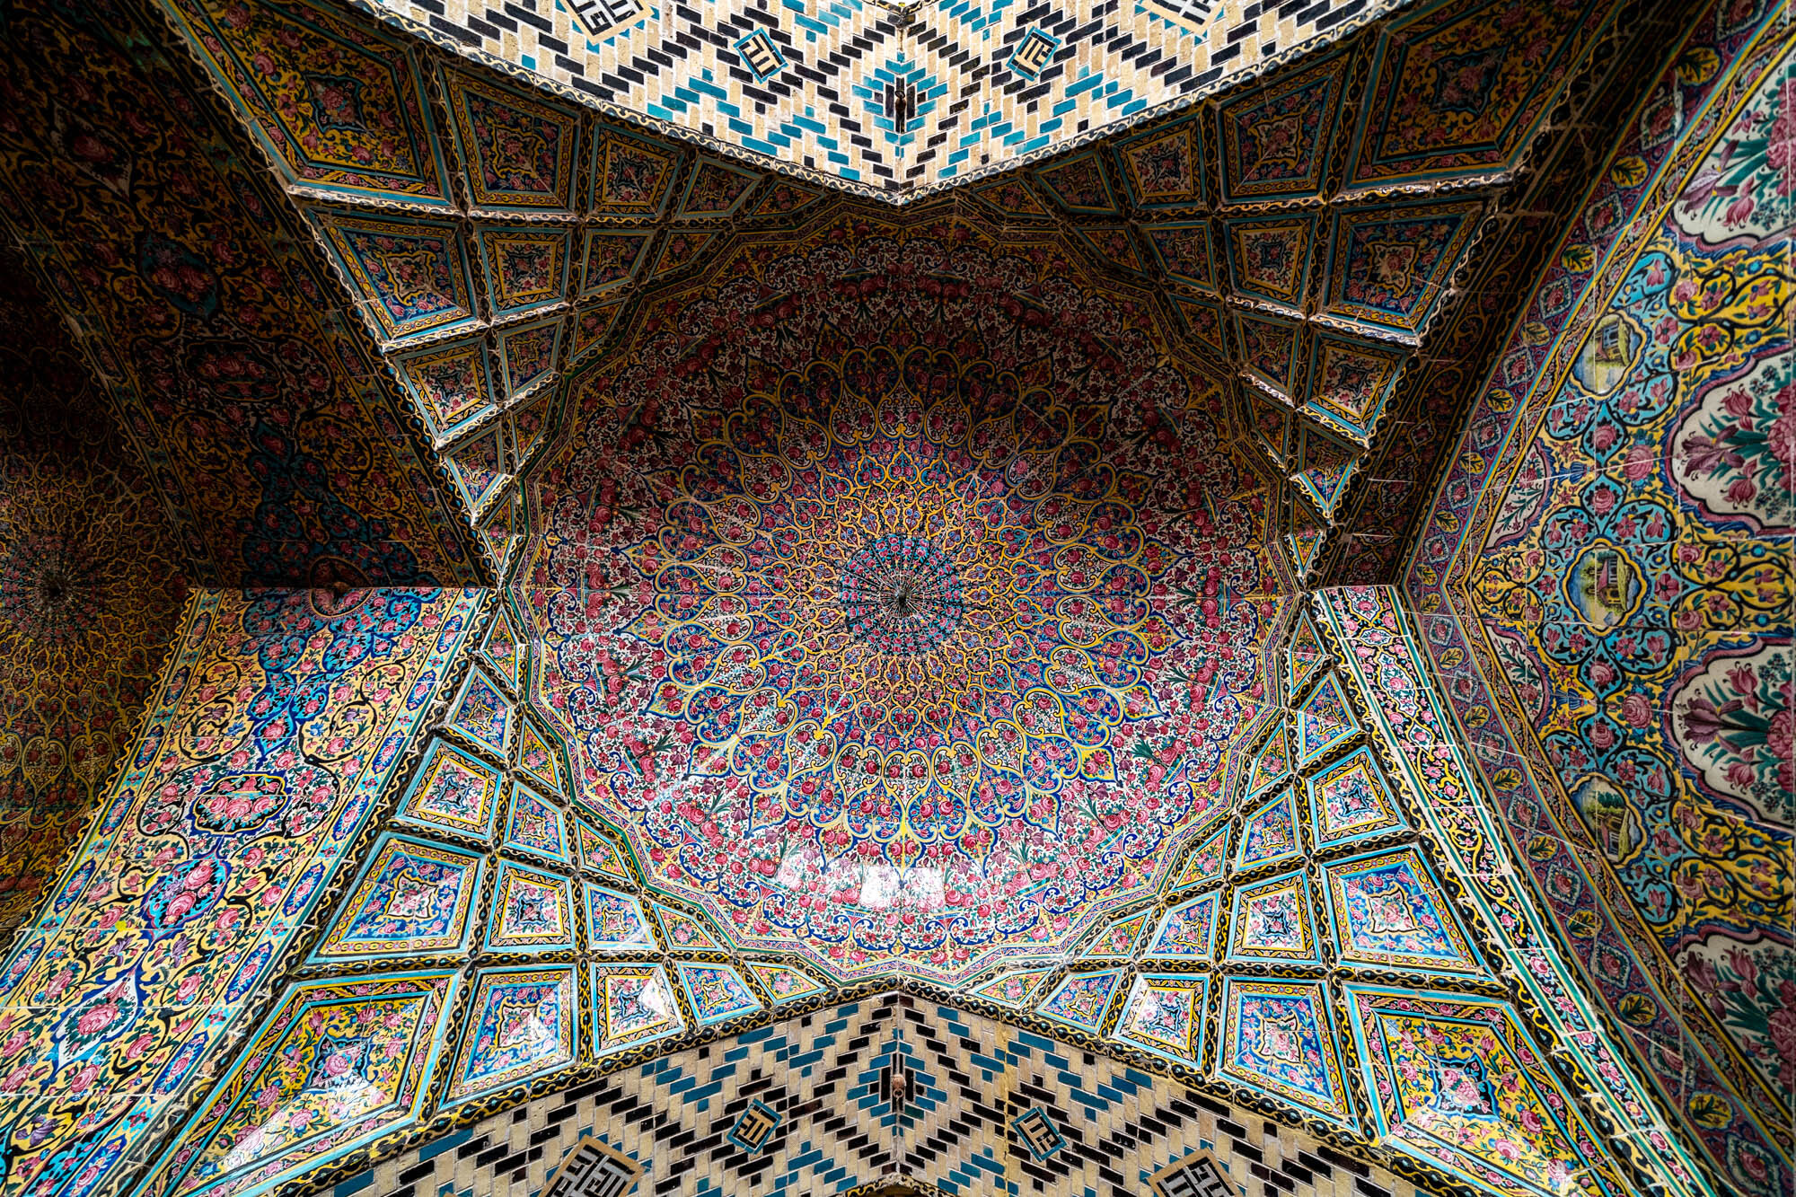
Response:
POLYGON ((449 205, 415 41, 309 2, 178 13, 291 183, 449 205))

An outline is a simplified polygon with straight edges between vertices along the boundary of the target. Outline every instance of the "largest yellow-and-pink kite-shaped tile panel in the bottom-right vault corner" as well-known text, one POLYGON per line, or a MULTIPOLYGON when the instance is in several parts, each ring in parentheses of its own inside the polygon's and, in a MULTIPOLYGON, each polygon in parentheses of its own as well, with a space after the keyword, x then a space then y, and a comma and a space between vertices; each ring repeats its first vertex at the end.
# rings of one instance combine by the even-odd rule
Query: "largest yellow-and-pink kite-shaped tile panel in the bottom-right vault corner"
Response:
POLYGON ((1514 1197, 1631 1192, 1507 1001, 1347 985, 1347 1006, 1394 1150, 1514 1197))

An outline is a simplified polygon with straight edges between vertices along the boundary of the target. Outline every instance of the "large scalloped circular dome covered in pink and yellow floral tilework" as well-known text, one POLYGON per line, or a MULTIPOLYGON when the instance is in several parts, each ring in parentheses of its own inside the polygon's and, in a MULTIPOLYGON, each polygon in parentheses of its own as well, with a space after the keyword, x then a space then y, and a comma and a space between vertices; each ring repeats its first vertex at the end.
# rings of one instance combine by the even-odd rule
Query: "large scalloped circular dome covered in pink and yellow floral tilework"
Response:
POLYGON ((824 221, 575 385, 539 697, 742 947, 952 983, 1155 891, 1223 811, 1266 505, 1144 297, 1072 279, 1047 239, 824 221))

